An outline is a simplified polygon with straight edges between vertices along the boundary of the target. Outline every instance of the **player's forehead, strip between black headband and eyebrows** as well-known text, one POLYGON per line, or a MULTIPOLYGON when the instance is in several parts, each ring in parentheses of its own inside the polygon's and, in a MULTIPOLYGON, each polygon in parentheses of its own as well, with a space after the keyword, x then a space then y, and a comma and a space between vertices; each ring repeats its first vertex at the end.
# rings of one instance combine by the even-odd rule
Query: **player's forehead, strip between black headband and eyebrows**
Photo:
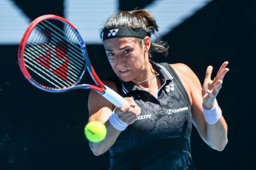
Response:
POLYGON ((114 50, 116 48, 123 48, 126 46, 135 46, 136 39, 133 37, 118 37, 118 38, 111 38, 106 39, 103 42, 104 47, 106 50, 114 50))

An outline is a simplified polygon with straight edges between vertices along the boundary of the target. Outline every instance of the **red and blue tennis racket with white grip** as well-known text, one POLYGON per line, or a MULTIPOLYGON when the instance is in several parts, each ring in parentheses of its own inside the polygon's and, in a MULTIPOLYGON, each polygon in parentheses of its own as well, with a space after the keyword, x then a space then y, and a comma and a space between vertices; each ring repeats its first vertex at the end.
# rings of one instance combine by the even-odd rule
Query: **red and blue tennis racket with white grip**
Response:
POLYGON ((48 92, 93 89, 117 107, 128 104, 100 81, 83 38, 63 17, 45 15, 33 20, 20 42, 18 60, 25 78, 39 89, 48 92), (80 84, 86 70, 95 85, 80 84))

